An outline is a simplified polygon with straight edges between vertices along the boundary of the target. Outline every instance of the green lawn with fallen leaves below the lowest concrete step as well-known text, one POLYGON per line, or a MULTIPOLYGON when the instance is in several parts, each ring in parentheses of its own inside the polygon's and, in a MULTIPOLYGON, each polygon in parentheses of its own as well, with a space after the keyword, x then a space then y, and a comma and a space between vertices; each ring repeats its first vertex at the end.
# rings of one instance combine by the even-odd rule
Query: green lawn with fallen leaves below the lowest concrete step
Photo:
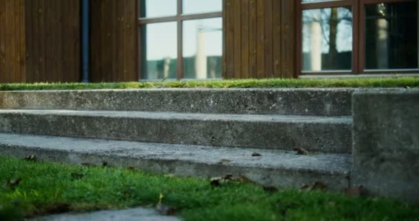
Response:
POLYGON ((212 186, 209 180, 110 167, 28 162, 0 156, 0 220, 53 212, 176 206, 185 220, 417 220, 419 206, 380 198, 284 189, 252 183, 212 186), (78 174, 78 175, 74 175, 78 174), (73 174, 73 175, 72 175, 73 174))

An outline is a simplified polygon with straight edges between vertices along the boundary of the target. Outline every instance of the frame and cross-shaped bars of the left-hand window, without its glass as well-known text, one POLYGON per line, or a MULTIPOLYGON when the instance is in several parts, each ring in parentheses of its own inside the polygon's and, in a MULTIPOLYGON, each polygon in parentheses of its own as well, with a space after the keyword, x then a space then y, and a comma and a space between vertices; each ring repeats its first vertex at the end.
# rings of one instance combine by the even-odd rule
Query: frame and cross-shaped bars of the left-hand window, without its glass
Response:
MULTIPOLYGON (((197 13, 190 13, 190 14, 183 14, 183 0, 176 0, 176 15, 169 15, 169 16, 163 16, 163 17, 140 17, 140 11, 141 11, 141 0, 136 1, 136 18, 137 18, 137 44, 136 44, 136 50, 137 50, 137 72, 139 73, 139 80, 142 81, 149 81, 150 79, 141 79, 141 76, 143 75, 141 71, 141 61, 142 61, 142 51, 141 50, 141 41, 143 41, 143 38, 141 37, 141 26, 145 26, 147 24, 151 23, 163 23, 163 22, 176 22, 176 47, 177 47, 177 58, 176 58, 176 80, 183 79, 183 21, 189 21, 189 20, 196 20, 196 19, 212 19, 212 18, 219 18, 221 17, 223 19, 223 11, 224 11, 224 1, 221 0, 222 8, 221 11, 216 12, 197 12, 197 13)), ((224 28, 224 27, 223 27, 224 28)), ((224 39, 224 37, 223 37, 224 39)), ((221 55, 222 57, 224 55, 221 55)), ((161 79, 156 79, 161 80, 161 79)))

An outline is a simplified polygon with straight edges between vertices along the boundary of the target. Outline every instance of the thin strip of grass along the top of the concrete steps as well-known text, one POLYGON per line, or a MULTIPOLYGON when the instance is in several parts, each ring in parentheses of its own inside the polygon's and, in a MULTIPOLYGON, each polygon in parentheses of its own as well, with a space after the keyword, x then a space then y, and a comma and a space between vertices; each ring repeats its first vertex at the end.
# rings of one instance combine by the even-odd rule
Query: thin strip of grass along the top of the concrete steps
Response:
POLYGON ((349 79, 233 79, 214 81, 154 81, 123 83, 0 84, 0 90, 83 90, 123 88, 394 88, 419 87, 419 77, 349 79))

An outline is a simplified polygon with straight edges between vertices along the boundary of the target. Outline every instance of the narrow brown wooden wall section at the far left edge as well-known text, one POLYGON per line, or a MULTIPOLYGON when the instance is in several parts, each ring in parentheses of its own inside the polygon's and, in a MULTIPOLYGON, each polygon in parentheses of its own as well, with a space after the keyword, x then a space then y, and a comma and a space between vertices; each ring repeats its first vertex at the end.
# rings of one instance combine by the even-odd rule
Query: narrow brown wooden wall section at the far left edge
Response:
POLYGON ((25 81, 25 0, 0 0, 0 82, 25 81))

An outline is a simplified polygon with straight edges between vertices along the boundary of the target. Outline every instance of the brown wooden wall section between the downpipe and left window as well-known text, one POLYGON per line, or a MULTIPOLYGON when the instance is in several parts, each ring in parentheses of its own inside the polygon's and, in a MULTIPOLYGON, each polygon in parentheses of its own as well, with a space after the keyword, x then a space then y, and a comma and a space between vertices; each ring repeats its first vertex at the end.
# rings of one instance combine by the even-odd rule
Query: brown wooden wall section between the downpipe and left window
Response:
POLYGON ((138 81, 136 0, 91 1, 91 81, 138 81))

